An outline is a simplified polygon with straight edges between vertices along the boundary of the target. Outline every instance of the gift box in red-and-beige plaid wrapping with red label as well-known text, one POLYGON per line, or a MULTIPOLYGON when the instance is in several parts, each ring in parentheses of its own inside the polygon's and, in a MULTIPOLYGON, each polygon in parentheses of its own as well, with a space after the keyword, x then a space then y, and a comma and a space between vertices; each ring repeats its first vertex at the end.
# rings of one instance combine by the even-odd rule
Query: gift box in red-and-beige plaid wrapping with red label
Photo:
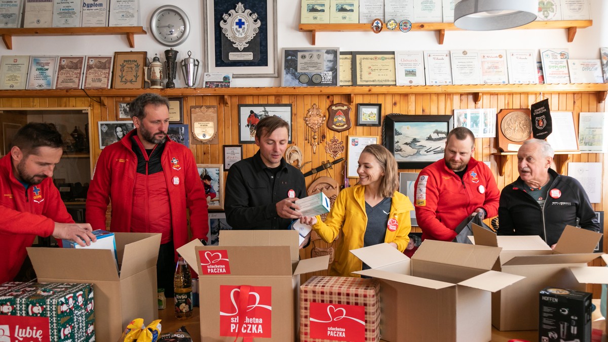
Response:
POLYGON ((379 341, 379 281, 314 276, 300 286, 300 341, 379 341))

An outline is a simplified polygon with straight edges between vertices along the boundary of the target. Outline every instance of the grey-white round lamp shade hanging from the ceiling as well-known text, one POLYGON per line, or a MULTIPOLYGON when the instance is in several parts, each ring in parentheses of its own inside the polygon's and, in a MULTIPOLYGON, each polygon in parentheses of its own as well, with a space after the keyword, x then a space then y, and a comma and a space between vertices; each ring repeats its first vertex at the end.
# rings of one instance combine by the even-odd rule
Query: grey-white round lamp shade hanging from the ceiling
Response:
POLYGON ((461 0, 454 6, 454 25, 463 30, 511 29, 533 22, 535 0, 461 0))

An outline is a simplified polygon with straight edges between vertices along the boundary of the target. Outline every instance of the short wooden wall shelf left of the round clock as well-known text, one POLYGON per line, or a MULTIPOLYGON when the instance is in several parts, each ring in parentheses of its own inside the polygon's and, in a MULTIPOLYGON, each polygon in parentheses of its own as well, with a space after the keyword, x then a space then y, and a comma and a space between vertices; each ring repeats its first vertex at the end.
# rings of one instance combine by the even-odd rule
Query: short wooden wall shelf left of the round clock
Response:
POLYGON ((7 49, 13 49, 13 36, 89 36, 126 35, 129 46, 135 47, 134 35, 145 35, 142 26, 120 27, 28 27, 22 29, 0 29, 2 41, 7 49))

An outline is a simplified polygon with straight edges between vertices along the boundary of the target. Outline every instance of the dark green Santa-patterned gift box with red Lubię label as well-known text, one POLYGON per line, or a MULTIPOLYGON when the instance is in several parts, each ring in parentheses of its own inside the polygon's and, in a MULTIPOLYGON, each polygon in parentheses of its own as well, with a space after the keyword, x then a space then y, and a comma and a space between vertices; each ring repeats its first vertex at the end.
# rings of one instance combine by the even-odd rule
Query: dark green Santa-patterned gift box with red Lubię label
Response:
MULTIPOLYGON (((91 284, 5 282, 0 285, 0 326, 13 341, 95 341, 91 284)), ((0 336, 2 336, 0 333, 0 336)))

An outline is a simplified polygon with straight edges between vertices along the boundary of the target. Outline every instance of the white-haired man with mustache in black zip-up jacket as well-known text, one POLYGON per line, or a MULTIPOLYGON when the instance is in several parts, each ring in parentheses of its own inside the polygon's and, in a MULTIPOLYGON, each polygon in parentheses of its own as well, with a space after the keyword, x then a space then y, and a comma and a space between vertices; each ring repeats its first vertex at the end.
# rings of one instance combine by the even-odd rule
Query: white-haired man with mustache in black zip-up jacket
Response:
POLYGON ((553 148, 531 139, 517 152, 519 178, 500 195, 499 235, 539 235, 551 248, 566 225, 599 231, 599 222, 578 180, 550 169, 553 148))

